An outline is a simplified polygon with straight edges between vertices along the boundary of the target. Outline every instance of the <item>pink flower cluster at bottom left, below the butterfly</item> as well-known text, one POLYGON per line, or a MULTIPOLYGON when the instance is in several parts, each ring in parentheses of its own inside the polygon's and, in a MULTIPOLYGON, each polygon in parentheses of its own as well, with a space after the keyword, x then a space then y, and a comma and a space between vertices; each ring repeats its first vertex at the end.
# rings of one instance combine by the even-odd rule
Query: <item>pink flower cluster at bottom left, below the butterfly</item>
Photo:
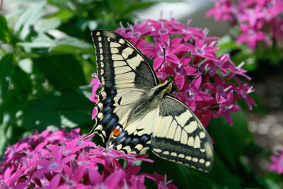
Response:
POLYGON ((152 162, 146 155, 97 147, 82 137, 79 129, 45 130, 8 147, 0 163, 0 188, 146 188, 145 177, 158 188, 176 188, 158 174, 137 175, 140 166, 134 161, 152 162))

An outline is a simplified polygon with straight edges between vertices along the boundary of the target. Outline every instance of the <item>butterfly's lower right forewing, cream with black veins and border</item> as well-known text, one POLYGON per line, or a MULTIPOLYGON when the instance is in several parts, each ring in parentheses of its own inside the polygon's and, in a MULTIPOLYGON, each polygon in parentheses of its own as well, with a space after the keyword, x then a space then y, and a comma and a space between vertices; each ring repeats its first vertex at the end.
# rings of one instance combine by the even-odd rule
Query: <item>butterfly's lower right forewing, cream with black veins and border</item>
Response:
POLYGON ((187 105, 173 96, 159 103, 158 125, 151 136, 151 149, 157 156, 209 171, 213 151, 209 134, 187 105))

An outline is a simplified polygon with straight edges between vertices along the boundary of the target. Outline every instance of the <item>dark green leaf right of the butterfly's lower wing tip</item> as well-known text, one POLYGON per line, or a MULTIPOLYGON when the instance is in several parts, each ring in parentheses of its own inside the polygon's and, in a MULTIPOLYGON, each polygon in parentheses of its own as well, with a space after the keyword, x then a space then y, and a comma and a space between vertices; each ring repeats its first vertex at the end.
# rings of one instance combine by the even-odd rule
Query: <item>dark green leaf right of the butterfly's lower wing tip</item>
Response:
POLYGON ((251 135, 243 110, 231 115, 233 126, 230 126, 222 116, 210 120, 207 130, 214 140, 214 151, 219 154, 221 161, 229 168, 237 170, 239 157, 243 154, 251 135))

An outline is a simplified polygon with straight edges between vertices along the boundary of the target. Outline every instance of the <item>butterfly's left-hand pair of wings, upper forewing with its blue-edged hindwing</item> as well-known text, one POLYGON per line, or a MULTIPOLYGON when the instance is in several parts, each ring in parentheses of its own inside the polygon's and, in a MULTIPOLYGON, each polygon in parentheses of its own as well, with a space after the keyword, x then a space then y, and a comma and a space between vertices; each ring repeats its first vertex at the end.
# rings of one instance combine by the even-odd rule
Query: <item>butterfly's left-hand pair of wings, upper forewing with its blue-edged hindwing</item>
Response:
POLYGON ((121 35, 109 30, 94 30, 98 79, 103 89, 98 93, 96 126, 107 141, 116 126, 127 127, 135 102, 158 84, 154 70, 141 52, 121 35))

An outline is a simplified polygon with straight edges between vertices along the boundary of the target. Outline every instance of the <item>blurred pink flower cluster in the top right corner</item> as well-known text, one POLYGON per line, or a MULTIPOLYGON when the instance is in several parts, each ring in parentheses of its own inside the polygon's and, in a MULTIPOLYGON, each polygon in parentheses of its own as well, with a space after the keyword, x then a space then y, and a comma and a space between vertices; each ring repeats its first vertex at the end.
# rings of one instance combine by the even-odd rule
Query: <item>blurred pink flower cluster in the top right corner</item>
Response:
POLYGON ((271 45, 272 40, 283 39, 282 0, 214 0, 214 8, 207 12, 207 16, 239 25, 241 34, 237 42, 246 42, 250 49, 254 49, 259 41, 271 45))

